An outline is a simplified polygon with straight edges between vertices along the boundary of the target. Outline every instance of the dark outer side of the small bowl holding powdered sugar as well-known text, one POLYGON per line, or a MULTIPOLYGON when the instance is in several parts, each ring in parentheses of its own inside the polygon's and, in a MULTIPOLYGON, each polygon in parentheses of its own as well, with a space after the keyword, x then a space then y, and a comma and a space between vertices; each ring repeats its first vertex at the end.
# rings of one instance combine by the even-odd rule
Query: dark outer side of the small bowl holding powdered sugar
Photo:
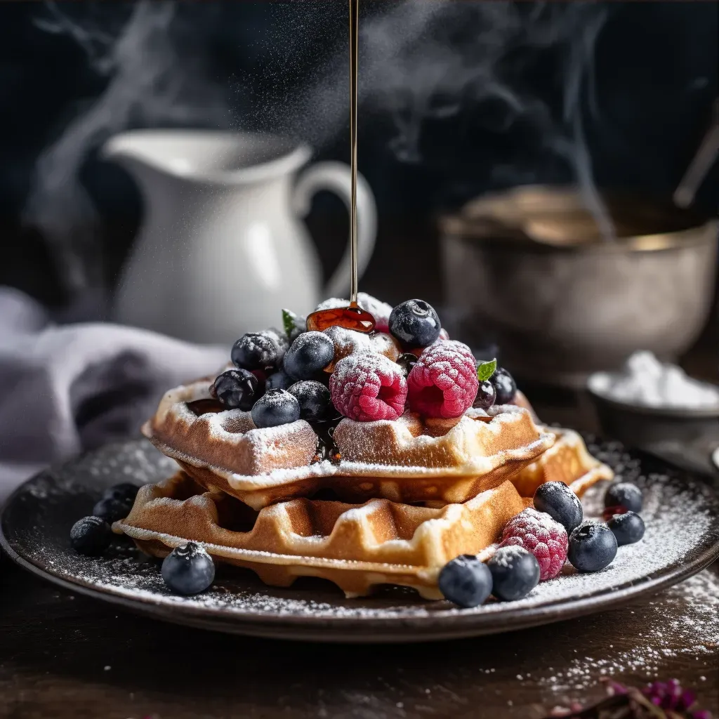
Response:
POLYGON ((719 449, 719 409, 658 408, 618 402, 592 388, 587 392, 597 412, 603 436, 644 449, 695 472, 719 475, 713 453, 719 449))

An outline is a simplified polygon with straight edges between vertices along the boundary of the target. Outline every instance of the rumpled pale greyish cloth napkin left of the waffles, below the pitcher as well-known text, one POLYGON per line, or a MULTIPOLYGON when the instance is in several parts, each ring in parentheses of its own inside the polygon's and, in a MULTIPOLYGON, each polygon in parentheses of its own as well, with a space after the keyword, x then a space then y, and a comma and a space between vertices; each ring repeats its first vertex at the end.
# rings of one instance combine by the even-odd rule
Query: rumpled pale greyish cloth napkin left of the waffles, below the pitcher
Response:
POLYGON ((228 357, 131 327, 53 325, 34 300, 0 288, 0 502, 47 464, 139 436, 162 393, 228 357))

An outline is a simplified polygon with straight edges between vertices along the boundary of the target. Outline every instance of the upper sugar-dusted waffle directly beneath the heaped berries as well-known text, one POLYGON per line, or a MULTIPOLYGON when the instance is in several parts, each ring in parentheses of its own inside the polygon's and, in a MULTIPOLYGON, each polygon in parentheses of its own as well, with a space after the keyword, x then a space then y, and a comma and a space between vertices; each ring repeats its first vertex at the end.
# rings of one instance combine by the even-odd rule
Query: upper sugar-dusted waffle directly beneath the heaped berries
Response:
POLYGON ((303 420, 257 429, 248 412, 197 416, 188 403, 209 399, 209 381, 170 390, 143 432, 210 491, 257 510, 325 487, 361 502, 461 503, 500 485, 554 444, 523 408, 472 411, 452 421, 342 420, 334 441, 342 459, 313 462, 317 436, 303 420))

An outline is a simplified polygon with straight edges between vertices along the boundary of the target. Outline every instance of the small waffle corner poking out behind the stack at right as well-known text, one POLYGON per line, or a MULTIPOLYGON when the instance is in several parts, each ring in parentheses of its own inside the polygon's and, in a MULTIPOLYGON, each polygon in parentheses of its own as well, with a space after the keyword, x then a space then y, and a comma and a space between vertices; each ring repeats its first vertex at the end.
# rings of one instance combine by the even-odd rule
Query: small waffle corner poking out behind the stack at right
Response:
POLYGON ((614 472, 587 452, 582 437, 571 429, 546 428, 557 436, 554 446, 535 462, 511 477, 523 497, 533 497, 544 482, 564 482, 578 497, 600 480, 611 480, 614 472))

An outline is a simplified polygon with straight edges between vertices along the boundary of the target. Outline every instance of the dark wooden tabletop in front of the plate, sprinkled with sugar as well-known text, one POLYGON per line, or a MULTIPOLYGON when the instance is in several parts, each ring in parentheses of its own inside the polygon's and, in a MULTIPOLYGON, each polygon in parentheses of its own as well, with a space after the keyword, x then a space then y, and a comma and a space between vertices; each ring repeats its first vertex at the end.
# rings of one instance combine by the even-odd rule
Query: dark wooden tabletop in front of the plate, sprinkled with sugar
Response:
POLYGON ((719 710, 719 564, 620 610, 406 646, 226 636, 122 613, 0 561, 0 716, 540 718, 601 677, 719 710))

